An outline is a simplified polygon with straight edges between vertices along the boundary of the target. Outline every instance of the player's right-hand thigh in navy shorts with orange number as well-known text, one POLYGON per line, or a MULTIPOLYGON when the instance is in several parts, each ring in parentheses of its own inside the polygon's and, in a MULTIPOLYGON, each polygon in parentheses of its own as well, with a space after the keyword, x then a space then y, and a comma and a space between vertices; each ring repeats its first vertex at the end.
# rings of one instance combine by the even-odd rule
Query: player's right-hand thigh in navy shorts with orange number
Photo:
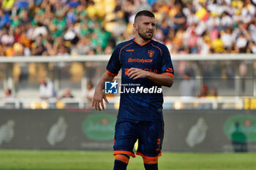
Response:
POLYGON ((141 123, 137 155, 158 157, 162 150, 164 122, 152 121, 141 123))

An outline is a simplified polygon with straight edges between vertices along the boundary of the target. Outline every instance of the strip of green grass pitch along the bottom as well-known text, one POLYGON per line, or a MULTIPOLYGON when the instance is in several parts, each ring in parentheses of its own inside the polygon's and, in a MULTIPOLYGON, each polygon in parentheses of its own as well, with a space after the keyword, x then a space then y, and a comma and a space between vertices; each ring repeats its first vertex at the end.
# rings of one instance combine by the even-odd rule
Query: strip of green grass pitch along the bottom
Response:
MULTIPOLYGON (((1 170, 111 170, 110 151, 0 150, 1 170)), ((140 156, 127 170, 143 170, 140 156)), ((256 170, 256 153, 163 152, 159 170, 256 170)))

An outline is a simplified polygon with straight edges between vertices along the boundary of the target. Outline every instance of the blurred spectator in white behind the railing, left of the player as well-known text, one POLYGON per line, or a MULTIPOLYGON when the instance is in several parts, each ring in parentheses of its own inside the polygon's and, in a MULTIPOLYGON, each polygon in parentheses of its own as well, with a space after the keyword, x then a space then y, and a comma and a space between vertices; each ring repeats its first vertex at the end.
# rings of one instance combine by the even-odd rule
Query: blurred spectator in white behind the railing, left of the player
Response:
POLYGON ((42 80, 39 86, 39 94, 40 94, 40 98, 42 99, 56 97, 56 91, 54 90, 53 82, 42 80))

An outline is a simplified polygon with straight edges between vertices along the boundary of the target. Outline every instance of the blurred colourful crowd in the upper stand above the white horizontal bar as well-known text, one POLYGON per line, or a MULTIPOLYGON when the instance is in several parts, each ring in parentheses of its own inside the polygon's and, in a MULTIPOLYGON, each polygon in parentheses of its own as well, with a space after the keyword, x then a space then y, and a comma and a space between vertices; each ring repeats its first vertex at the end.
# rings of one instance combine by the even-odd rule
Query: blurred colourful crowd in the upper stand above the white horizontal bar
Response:
POLYGON ((3 0, 0 56, 110 54, 141 9, 170 53, 256 53, 251 0, 3 0))

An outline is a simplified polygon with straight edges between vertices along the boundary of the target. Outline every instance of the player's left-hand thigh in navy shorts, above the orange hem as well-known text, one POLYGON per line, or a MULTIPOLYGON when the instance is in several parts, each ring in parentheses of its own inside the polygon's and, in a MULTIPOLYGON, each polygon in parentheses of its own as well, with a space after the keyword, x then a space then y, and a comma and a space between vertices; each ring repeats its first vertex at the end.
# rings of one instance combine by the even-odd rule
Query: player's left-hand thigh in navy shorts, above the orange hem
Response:
POLYGON ((127 121, 116 122, 114 151, 129 151, 132 152, 137 139, 136 124, 127 121))

